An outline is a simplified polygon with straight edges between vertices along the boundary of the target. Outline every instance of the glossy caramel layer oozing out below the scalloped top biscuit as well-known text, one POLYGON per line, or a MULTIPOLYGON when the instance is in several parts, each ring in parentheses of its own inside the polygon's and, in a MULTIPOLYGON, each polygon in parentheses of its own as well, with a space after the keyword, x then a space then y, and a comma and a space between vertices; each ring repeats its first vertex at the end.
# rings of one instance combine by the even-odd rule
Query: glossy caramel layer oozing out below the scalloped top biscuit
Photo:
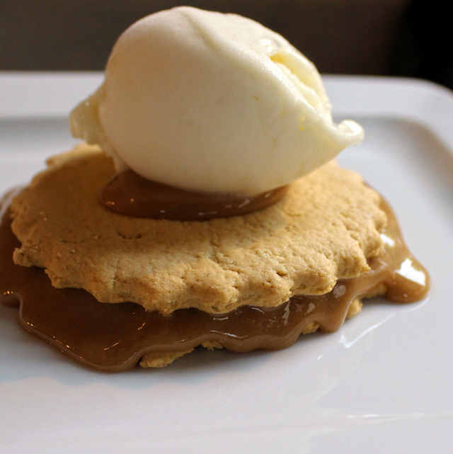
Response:
POLYGON ((20 305, 19 324, 76 361, 97 370, 122 371, 171 363, 196 346, 245 352, 279 350, 300 334, 336 331, 360 310, 364 297, 384 295, 392 302, 415 302, 429 288, 428 273, 408 251, 391 208, 382 233, 383 253, 357 278, 339 280, 325 295, 294 296, 278 307, 242 306, 226 314, 180 309, 170 315, 132 302, 98 302, 86 290, 54 288, 43 268, 13 263, 21 246, 11 232, 10 211, 0 225, 0 300, 20 305))

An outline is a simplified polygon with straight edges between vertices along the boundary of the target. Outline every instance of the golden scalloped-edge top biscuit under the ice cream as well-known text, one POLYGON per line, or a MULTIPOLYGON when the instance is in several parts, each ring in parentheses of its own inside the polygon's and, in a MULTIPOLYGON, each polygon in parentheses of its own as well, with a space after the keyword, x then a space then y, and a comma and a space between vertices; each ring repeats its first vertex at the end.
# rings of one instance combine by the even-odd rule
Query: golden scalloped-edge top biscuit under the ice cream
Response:
POLYGON ((46 268, 55 287, 84 288, 102 302, 162 313, 275 307, 360 276, 382 250, 379 195, 333 161, 270 208, 205 222, 105 210, 98 198, 114 169, 96 147, 81 145, 48 166, 13 199, 22 243, 14 261, 46 268))

